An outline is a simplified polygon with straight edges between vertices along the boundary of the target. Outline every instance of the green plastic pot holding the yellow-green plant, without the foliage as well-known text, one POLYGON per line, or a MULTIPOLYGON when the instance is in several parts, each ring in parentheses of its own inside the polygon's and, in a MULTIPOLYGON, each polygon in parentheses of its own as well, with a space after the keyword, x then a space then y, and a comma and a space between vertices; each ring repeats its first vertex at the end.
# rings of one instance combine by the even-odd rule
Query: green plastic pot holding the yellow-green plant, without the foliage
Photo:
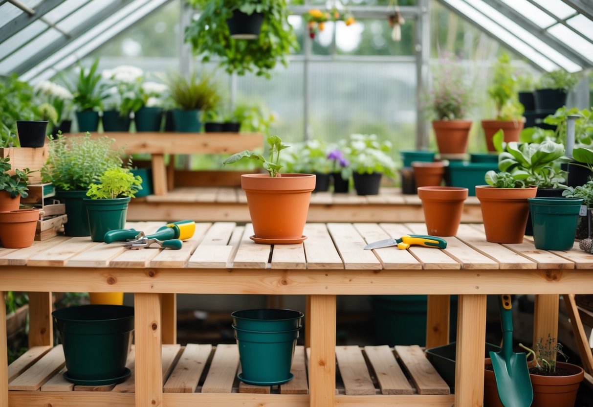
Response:
POLYGON ((123 229, 126 225, 127 204, 130 198, 82 200, 87 207, 88 225, 93 241, 105 241, 110 230, 123 229))

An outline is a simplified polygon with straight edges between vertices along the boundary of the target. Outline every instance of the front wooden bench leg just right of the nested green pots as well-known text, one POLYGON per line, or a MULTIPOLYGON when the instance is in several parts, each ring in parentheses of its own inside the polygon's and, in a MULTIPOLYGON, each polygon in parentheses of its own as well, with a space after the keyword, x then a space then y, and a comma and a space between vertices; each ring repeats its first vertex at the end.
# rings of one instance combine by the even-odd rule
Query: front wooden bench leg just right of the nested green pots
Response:
POLYGON ((310 295, 311 407, 333 406, 336 394, 336 295, 310 295))

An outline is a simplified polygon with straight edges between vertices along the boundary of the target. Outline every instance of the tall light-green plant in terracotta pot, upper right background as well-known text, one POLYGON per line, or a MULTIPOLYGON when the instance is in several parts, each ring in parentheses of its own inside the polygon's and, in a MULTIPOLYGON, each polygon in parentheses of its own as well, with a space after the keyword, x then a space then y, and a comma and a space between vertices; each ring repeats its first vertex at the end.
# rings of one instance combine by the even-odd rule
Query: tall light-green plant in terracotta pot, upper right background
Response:
POLYGON ((492 136, 499 130, 503 131, 505 142, 519 141, 519 133, 523 129, 525 119, 522 116, 523 105, 517 98, 517 87, 511 59, 507 54, 503 54, 495 63, 492 85, 488 88, 488 95, 496 106, 496 119, 482 120, 488 151, 495 151, 492 136))

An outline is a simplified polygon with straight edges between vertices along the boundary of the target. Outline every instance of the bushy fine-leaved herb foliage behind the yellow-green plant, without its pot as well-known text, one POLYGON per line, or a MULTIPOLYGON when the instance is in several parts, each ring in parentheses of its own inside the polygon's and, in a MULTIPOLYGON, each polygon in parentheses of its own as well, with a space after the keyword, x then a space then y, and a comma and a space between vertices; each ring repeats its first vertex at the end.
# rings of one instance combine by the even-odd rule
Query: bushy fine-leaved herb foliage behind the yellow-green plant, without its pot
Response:
POLYGON ((91 138, 91 133, 70 137, 58 132, 49 143, 49 159, 41 173, 43 182, 59 190, 86 190, 109 168, 121 167, 123 148, 111 147, 115 140, 107 136, 91 138))

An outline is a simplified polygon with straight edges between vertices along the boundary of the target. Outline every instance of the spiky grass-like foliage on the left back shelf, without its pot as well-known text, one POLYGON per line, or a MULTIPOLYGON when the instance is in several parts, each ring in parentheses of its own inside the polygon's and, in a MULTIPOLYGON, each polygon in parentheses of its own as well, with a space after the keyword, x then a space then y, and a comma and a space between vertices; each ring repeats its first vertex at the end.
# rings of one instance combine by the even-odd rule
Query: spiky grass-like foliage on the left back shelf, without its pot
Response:
POLYGON ((170 97, 174 104, 187 110, 212 110, 221 102, 214 75, 203 71, 199 76, 192 72, 186 78, 178 72, 167 76, 170 97))

